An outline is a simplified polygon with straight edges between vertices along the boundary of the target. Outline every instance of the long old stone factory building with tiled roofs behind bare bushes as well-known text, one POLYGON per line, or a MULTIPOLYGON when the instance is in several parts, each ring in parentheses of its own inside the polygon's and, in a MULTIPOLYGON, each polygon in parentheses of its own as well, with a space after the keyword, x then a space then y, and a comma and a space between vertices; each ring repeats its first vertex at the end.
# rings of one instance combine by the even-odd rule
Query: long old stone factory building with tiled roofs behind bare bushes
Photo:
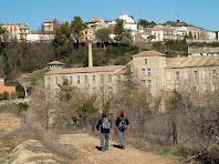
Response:
MULTIPOLYGON (((143 51, 133 55, 128 65, 133 80, 154 98, 166 98, 166 93, 174 90, 205 95, 218 89, 218 55, 166 58, 166 54, 157 51, 143 51)), ((58 84, 64 79, 87 94, 116 93, 119 92, 119 81, 126 80, 125 68, 126 65, 53 69, 44 76, 46 93, 49 96, 58 94, 58 84)))

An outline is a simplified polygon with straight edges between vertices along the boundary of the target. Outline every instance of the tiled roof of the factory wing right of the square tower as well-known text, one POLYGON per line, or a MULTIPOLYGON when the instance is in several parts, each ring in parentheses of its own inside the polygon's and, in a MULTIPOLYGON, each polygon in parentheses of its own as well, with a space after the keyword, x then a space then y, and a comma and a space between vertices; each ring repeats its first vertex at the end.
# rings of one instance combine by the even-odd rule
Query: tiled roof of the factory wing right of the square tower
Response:
POLYGON ((165 68, 200 68, 219 65, 218 55, 167 58, 165 68))

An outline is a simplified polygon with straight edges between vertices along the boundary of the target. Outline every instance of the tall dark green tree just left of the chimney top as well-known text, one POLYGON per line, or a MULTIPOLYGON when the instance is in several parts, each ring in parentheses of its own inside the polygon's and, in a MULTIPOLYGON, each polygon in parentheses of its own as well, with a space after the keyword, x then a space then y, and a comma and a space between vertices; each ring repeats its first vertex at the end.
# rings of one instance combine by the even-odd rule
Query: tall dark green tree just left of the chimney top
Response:
POLYGON ((82 19, 80 17, 74 17, 74 20, 71 22, 71 33, 73 37, 73 40, 76 41, 77 47, 79 47, 79 41, 80 41, 80 37, 81 37, 81 31, 84 30, 86 28, 86 25, 84 24, 84 22, 82 21, 82 19))

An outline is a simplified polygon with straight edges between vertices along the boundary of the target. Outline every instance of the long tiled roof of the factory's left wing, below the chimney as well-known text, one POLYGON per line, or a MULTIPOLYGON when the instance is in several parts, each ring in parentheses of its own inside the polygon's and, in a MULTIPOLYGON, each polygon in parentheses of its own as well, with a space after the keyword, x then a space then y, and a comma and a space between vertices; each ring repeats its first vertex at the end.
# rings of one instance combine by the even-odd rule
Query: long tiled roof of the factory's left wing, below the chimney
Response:
POLYGON ((109 66, 93 66, 93 68, 71 68, 71 69, 53 69, 49 74, 70 74, 70 73, 91 73, 91 72, 114 72, 122 69, 123 65, 109 65, 109 66))

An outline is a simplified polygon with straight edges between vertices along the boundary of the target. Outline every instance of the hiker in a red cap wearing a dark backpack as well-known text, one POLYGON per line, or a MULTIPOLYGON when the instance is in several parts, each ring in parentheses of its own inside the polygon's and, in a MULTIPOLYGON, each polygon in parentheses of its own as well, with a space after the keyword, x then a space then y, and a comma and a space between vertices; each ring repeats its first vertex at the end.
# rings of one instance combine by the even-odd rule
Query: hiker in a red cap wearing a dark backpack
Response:
POLYGON ((129 124, 127 117, 124 115, 124 111, 121 111, 121 116, 116 120, 117 134, 121 141, 121 147, 125 150, 125 137, 126 137, 126 129, 129 124))

